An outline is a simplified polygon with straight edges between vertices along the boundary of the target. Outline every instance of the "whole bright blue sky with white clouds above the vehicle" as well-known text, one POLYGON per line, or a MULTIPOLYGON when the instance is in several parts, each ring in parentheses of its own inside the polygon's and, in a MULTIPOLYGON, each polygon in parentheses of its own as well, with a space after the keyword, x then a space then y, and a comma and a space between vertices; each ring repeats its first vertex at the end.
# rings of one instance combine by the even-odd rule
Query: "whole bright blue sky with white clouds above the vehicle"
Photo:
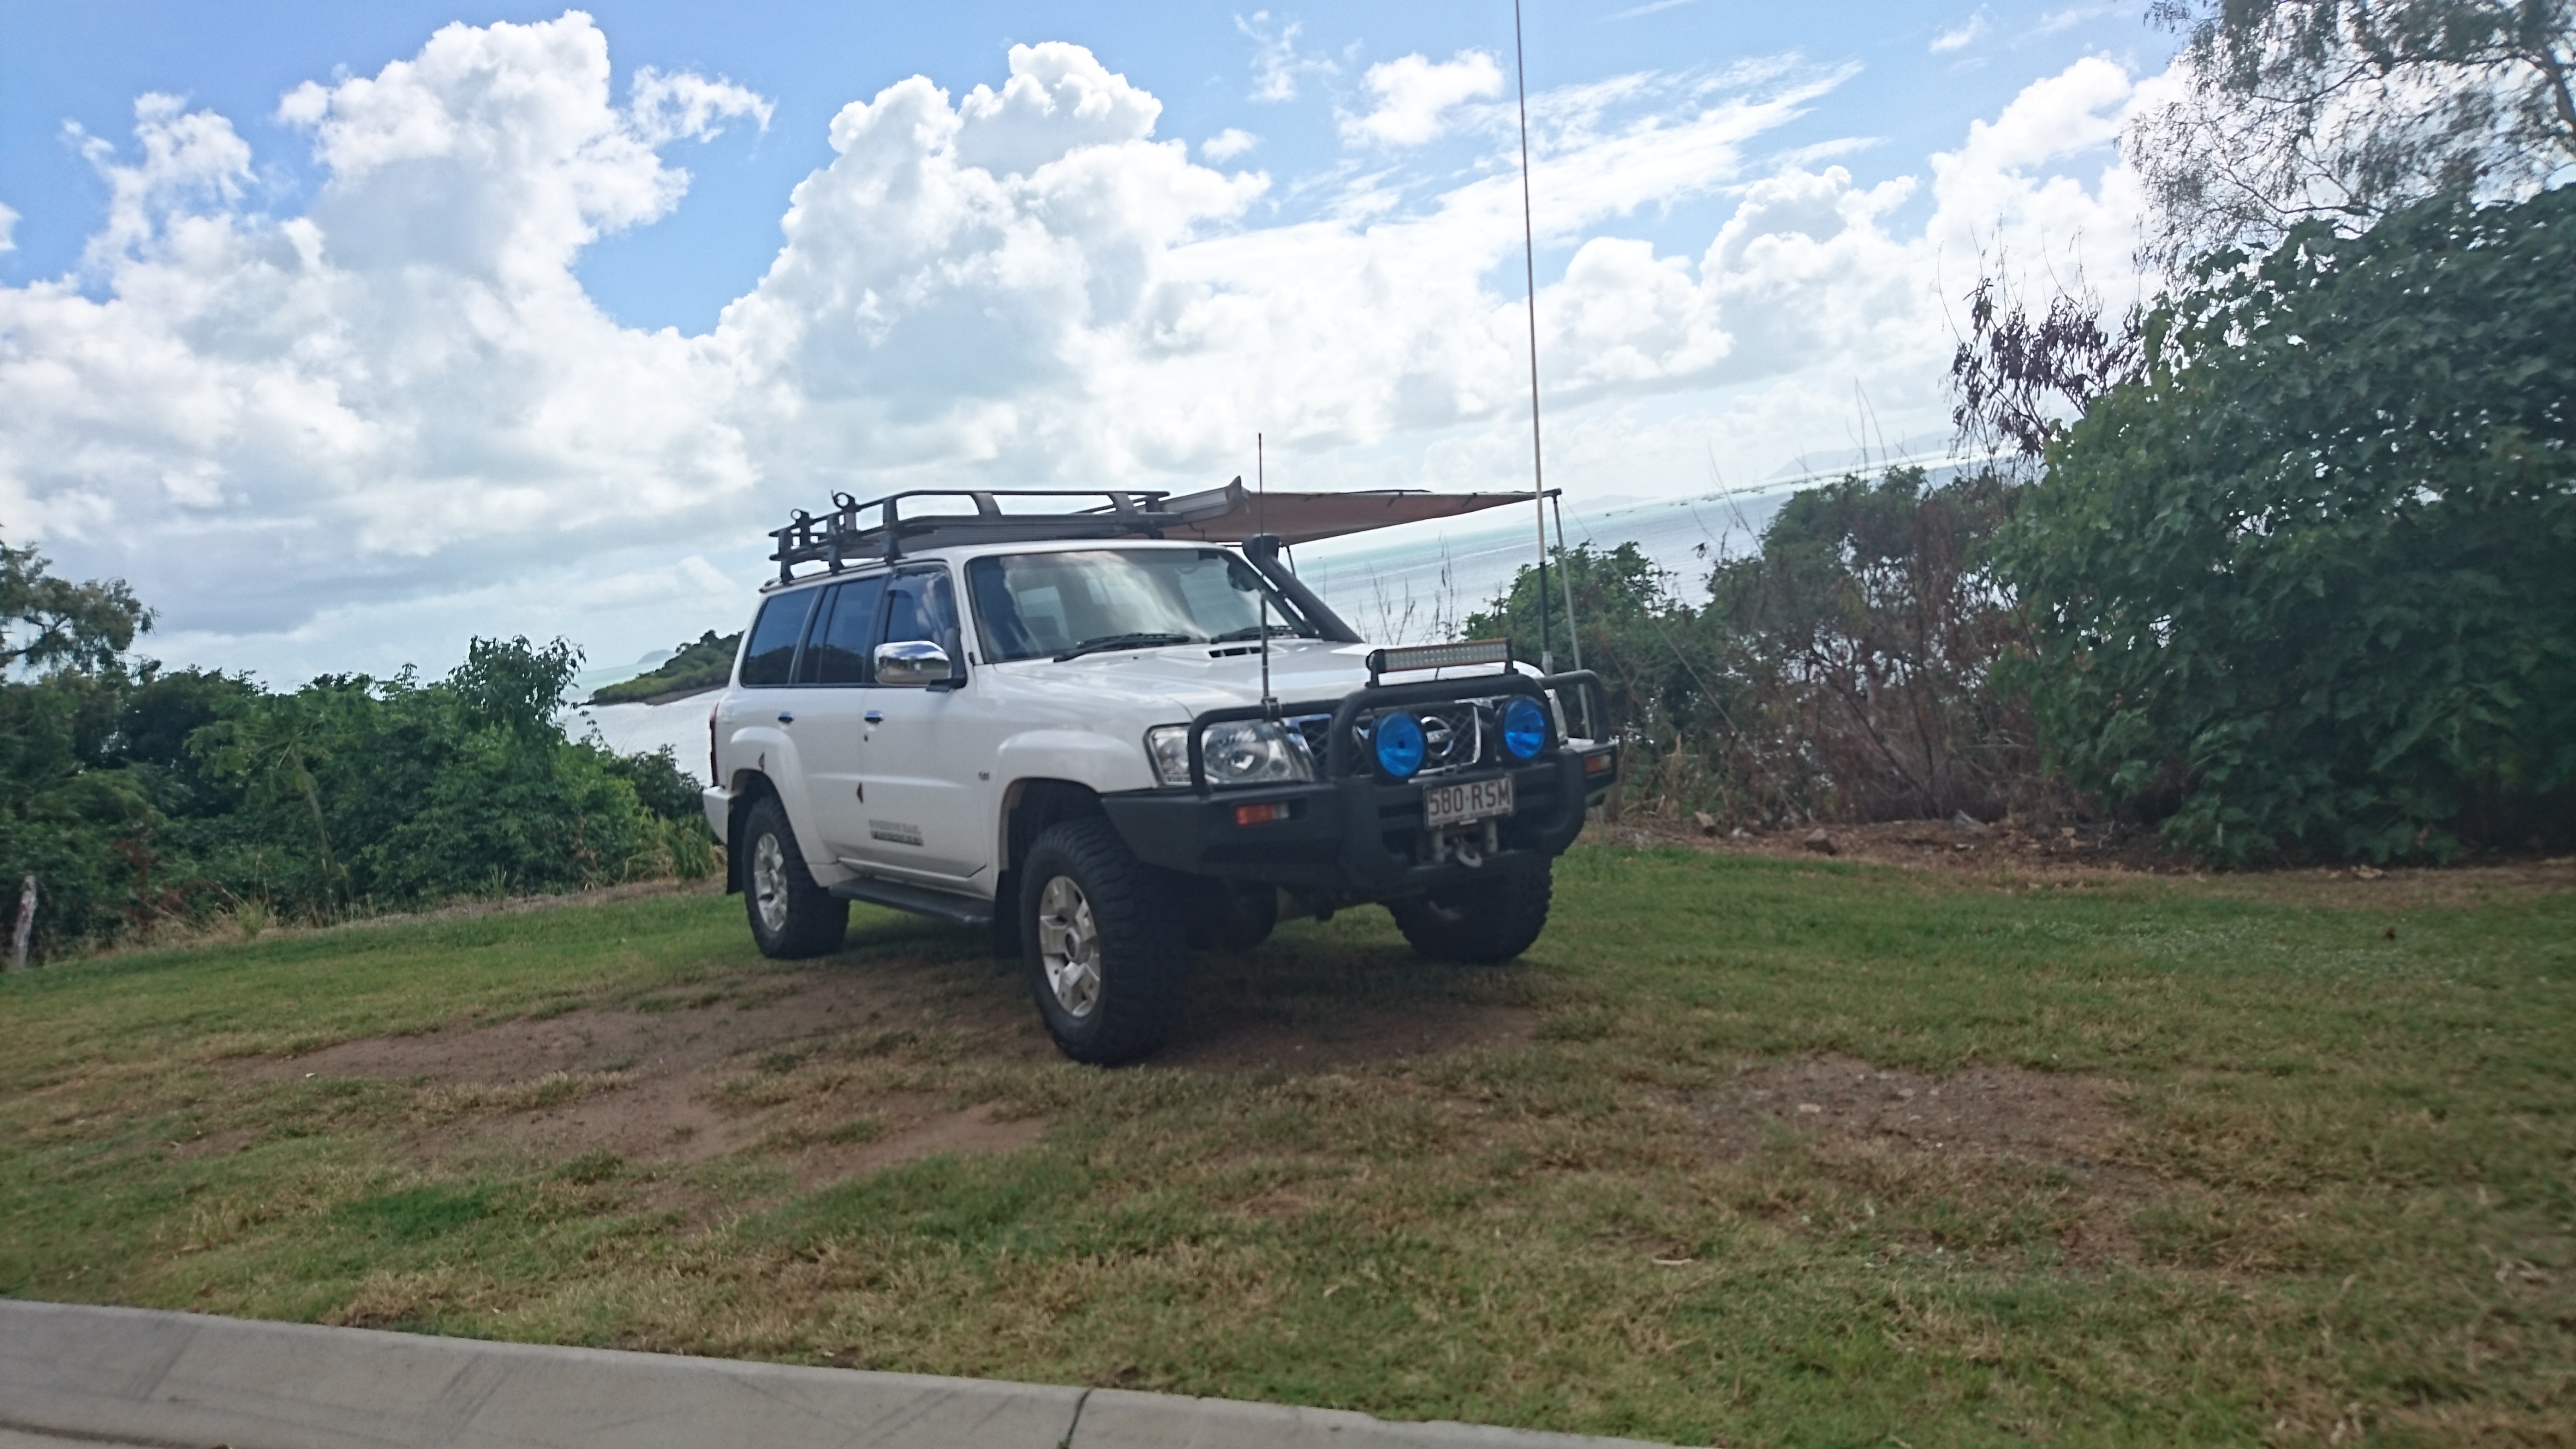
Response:
MULTIPOLYGON (((1548 482, 1945 436, 2136 286, 2141 5, 1533 0, 1548 482)), ((737 629, 835 490, 1530 480, 1512 8, 0 0, 0 539, 144 652, 737 629)))

